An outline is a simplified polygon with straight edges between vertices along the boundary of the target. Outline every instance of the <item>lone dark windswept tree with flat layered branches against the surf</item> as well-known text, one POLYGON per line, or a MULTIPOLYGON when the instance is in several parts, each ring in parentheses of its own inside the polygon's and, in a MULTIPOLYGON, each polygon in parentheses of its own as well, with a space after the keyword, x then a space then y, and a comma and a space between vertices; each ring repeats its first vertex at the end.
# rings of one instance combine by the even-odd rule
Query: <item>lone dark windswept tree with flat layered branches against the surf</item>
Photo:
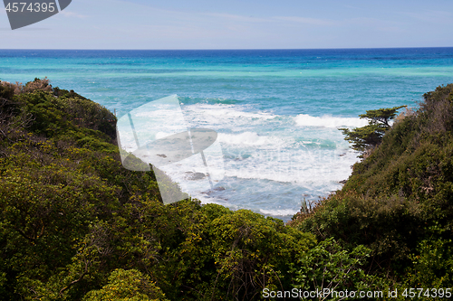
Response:
POLYGON ((374 146, 378 146, 382 141, 384 133, 390 129, 390 120, 397 116, 400 106, 394 108, 379 108, 367 110, 366 114, 359 115, 360 118, 367 118, 368 125, 365 127, 339 128, 346 137, 344 140, 353 143, 352 149, 364 152, 374 146))

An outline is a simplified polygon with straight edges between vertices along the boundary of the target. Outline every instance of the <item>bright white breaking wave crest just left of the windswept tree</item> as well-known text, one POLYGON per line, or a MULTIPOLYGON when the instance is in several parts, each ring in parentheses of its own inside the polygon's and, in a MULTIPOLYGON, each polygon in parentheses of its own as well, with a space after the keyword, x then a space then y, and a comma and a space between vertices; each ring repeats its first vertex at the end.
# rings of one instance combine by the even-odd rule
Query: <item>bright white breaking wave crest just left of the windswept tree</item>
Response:
POLYGON ((368 124, 367 120, 361 118, 339 118, 328 115, 313 117, 307 114, 297 115, 294 121, 299 127, 364 127, 368 124))

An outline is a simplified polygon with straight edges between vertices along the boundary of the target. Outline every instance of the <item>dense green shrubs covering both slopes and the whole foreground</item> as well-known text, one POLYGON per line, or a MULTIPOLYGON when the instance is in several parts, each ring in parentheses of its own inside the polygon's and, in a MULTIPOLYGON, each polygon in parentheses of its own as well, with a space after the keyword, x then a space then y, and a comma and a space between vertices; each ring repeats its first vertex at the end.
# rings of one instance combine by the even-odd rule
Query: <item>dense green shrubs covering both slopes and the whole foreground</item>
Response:
POLYGON ((109 110, 46 79, 0 81, 0 299, 451 287, 452 89, 427 93, 342 191, 284 225, 197 200, 164 205, 152 172, 121 166, 109 110))

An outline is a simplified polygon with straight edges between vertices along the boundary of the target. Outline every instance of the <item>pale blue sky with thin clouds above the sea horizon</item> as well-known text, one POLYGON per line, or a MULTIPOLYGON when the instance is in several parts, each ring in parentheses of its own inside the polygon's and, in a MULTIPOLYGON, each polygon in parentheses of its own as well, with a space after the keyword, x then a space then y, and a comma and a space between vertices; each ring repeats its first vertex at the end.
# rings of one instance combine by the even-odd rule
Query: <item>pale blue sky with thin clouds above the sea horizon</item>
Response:
MULTIPOLYGON (((4 6, 2 6, 4 7, 4 6)), ((0 49, 453 47, 451 0, 72 0, 0 49)))

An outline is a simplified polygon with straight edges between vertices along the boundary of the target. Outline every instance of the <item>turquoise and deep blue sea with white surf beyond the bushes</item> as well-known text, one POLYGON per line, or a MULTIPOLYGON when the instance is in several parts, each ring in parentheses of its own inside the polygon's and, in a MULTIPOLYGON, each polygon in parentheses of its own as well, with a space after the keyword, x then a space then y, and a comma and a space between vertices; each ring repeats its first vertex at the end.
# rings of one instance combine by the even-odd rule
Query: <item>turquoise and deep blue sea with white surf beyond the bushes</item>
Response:
MULTIPOLYGON (((178 94, 192 127, 217 131, 225 190, 202 202, 288 220, 341 187, 356 154, 338 127, 367 109, 416 106, 453 82, 453 48, 262 51, 0 51, 0 80, 48 77, 115 109, 178 94)), ((197 172, 197 170, 194 170, 197 172)), ((169 171, 171 174, 171 171, 169 171)))

